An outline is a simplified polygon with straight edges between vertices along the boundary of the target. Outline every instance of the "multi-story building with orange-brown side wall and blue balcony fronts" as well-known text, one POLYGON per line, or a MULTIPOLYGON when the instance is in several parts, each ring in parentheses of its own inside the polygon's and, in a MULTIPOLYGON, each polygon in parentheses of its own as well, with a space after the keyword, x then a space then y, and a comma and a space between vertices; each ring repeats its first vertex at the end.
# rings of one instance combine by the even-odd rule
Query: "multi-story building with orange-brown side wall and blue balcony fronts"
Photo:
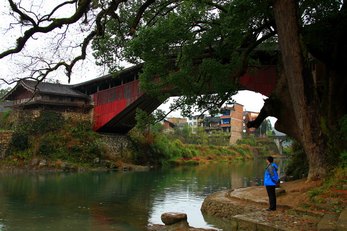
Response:
POLYGON ((222 114, 221 128, 223 132, 230 133, 230 144, 236 144, 236 141, 242 139, 243 131, 243 105, 238 103, 228 103, 221 108, 222 114))

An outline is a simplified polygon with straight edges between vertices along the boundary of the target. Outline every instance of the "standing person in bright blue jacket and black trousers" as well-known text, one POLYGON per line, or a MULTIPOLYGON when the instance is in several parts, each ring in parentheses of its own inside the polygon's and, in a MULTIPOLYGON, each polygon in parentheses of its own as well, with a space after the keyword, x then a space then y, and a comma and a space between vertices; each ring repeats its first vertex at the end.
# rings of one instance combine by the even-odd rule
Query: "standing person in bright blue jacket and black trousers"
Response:
POLYGON ((278 181, 277 175, 277 165, 273 163, 273 157, 267 156, 266 158, 267 166, 264 176, 264 185, 266 187, 267 195, 269 196, 270 207, 266 211, 276 210, 276 193, 275 186, 278 181))

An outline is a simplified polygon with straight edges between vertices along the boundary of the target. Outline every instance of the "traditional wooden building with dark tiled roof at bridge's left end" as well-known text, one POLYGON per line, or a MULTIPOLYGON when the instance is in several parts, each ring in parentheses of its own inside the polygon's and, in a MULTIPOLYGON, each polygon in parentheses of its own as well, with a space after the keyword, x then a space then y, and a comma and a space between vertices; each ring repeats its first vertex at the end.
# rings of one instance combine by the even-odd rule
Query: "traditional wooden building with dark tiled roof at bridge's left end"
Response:
POLYGON ((38 83, 27 79, 20 80, 2 99, 13 101, 13 104, 6 107, 24 110, 86 112, 93 107, 90 96, 73 89, 73 85, 38 83))

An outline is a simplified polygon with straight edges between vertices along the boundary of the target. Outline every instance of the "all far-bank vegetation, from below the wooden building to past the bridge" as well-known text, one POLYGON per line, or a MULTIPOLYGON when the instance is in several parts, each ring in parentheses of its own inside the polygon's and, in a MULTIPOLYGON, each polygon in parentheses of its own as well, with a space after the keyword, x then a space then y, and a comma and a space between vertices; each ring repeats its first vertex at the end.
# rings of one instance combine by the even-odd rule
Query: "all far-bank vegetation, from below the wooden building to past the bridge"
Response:
POLYGON ((157 124, 151 133, 133 129, 129 134, 128 148, 119 158, 111 158, 99 134, 92 130, 90 120, 47 111, 37 116, 23 111, 18 118, 14 113, 4 113, 1 127, 15 130, 11 146, 2 160, 3 164, 12 166, 30 165, 33 159, 49 160, 46 166, 50 167, 67 162, 76 168, 95 168, 98 167, 95 159, 117 163, 113 166, 122 163, 181 165, 239 161, 278 154, 275 143, 269 138, 255 139, 253 135, 244 134, 243 140, 231 146, 222 134, 207 141, 207 136, 199 138, 199 133, 188 133, 191 142, 187 142, 187 137, 179 134, 162 133, 161 125, 157 124))

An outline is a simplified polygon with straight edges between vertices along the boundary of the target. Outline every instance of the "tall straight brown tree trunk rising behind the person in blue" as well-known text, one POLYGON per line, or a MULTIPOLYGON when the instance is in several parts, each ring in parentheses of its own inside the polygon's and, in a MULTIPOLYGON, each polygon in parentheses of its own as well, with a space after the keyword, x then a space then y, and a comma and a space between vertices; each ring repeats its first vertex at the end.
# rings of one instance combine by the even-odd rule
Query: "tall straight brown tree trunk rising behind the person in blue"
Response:
MULTIPOLYGON (((269 0, 275 14, 284 72, 298 127, 297 140, 309 161, 308 180, 326 174, 326 137, 318 95, 308 65, 296 0, 269 0)), ((288 116, 293 116, 288 115, 288 116)))

